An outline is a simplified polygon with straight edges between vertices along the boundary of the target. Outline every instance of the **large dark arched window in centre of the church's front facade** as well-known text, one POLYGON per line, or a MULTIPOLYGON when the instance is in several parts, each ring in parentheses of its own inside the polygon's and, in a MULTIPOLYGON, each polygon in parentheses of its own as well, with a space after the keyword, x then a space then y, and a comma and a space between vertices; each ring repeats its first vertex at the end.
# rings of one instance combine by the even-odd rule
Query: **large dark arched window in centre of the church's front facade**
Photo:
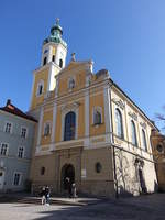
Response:
POLYGON ((75 139, 76 131, 76 114, 70 111, 65 116, 65 130, 64 130, 64 141, 69 141, 75 139))

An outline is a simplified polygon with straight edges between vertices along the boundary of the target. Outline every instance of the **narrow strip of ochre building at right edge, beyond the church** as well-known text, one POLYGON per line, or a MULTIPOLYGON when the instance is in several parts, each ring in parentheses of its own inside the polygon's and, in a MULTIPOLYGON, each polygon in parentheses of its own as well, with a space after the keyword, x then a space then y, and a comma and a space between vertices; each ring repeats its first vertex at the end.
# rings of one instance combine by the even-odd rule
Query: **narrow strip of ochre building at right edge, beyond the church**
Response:
POLYGON ((165 135, 153 130, 152 146, 157 173, 158 189, 165 191, 165 135))

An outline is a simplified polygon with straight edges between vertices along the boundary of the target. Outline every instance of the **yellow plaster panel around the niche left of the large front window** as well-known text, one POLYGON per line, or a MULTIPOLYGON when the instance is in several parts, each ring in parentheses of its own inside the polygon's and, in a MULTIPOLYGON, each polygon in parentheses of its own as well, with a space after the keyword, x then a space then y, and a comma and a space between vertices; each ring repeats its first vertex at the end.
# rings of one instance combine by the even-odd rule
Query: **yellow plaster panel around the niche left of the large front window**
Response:
POLYGON ((53 110, 48 110, 48 111, 44 111, 44 116, 43 116, 43 124, 42 124, 42 139, 41 139, 41 144, 45 145, 45 144, 50 144, 51 143, 51 134, 47 136, 44 136, 44 123, 46 121, 51 122, 51 133, 52 133, 52 122, 53 122, 53 110))

